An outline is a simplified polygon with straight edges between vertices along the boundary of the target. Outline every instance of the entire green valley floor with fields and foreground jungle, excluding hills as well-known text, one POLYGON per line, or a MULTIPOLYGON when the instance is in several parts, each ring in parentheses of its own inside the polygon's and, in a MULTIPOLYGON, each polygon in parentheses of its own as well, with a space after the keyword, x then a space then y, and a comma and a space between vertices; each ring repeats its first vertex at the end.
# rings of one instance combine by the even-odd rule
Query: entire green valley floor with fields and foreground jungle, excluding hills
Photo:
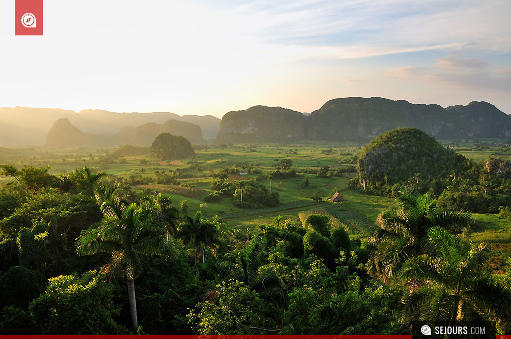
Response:
MULTIPOLYGON (((363 146, 0 150, 0 333, 409 334, 460 300, 475 308, 454 322, 509 333, 509 209, 460 212, 422 194, 428 176, 393 197, 350 190, 363 146)), ((497 183, 499 159, 471 164, 497 183)))

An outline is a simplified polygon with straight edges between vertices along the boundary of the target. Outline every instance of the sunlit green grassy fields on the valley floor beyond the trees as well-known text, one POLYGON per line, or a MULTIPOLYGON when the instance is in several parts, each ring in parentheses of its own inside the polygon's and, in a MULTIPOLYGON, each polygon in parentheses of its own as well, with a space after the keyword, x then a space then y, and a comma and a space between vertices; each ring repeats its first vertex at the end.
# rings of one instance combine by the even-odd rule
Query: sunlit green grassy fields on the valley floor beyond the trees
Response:
MULTIPOLYGON (((449 145, 449 141, 443 141, 449 145)), ((456 143, 452 147, 459 153, 475 161, 484 161, 492 155, 511 159, 511 151, 503 146, 505 141, 486 141, 482 148, 476 148, 474 141, 456 143)), ((450 145, 451 146, 451 145, 450 145)), ((271 222, 278 215, 300 223, 300 215, 322 213, 331 217, 331 222, 343 224, 351 235, 366 238, 374 227, 379 213, 396 206, 394 199, 366 195, 348 189, 354 172, 343 176, 316 177, 304 173, 317 170, 321 166, 346 168, 356 166, 356 157, 363 144, 303 141, 293 144, 266 145, 195 145, 195 159, 162 162, 151 159, 149 154, 115 155, 112 148, 76 148, 76 149, 8 149, 0 148, 0 164, 12 164, 17 167, 32 165, 50 166, 51 173, 65 173, 83 166, 101 170, 111 178, 137 175, 147 178, 148 183, 132 185, 136 192, 157 190, 171 197, 176 206, 187 200, 188 214, 201 209, 205 217, 219 215, 226 220, 228 227, 242 231, 254 231, 259 224, 271 222), (281 205, 272 208, 242 209, 233 205, 234 197, 222 196, 218 202, 204 202, 204 197, 212 193, 211 184, 215 182, 213 174, 224 167, 236 165, 238 169, 253 166, 261 174, 231 175, 229 180, 258 178, 259 182, 270 188, 267 174, 275 171, 275 165, 281 159, 291 159, 298 177, 274 179, 271 189, 280 195, 281 205), (191 171, 192 177, 179 178, 180 185, 156 184, 156 171, 175 170, 177 168, 199 166, 203 171, 191 171), (309 184, 305 185, 305 178, 309 184), (328 200, 333 189, 337 188, 345 201, 333 203, 328 200), (322 201, 314 201, 311 195, 319 192, 322 201), (205 205, 203 205, 205 204, 205 205)), ((8 178, 0 177, 0 183, 8 178)), ((239 197, 238 197, 239 198, 239 197)), ((511 256, 511 220, 497 215, 474 214, 474 229, 471 235, 476 241, 490 245, 490 264, 495 273, 502 273, 506 258, 511 256)))

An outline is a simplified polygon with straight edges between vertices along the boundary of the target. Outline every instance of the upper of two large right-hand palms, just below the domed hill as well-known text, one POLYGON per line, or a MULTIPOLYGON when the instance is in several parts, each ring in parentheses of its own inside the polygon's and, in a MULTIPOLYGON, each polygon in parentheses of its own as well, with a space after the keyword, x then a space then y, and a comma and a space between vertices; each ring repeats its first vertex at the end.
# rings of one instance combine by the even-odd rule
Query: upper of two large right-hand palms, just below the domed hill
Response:
POLYGON ((368 240, 369 245, 376 246, 368 271, 385 282, 396 276, 407 259, 423 254, 422 242, 430 228, 459 232, 471 218, 469 213, 437 208, 428 194, 419 195, 414 190, 400 191, 397 200, 401 206, 378 216, 378 230, 368 240))

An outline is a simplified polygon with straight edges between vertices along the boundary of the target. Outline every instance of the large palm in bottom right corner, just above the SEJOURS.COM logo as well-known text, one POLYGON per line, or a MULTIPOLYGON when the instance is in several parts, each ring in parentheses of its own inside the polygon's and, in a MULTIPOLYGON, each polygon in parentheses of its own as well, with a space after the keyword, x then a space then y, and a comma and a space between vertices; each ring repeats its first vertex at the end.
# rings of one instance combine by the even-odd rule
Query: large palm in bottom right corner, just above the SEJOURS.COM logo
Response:
POLYGON ((511 325, 511 288, 485 273, 485 244, 461 239, 440 227, 426 232, 426 253, 408 259, 400 272, 408 291, 402 321, 490 320, 511 325))

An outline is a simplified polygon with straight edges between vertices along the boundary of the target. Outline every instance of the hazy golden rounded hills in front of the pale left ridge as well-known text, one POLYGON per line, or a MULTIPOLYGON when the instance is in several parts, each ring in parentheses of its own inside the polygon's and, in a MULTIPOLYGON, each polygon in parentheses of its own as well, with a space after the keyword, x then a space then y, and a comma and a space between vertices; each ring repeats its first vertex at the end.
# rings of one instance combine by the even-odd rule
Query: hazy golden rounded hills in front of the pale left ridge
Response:
POLYGON ((149 146, 160 133, 184 137, 191 143, 204 143, 198 125, 171 119, 163 124, 150 122, 137 127, 125 126, 116 134, 83 132, 67 118, 58 119, 48 132, 47 147, 113 146, 130 144, 149 146))

